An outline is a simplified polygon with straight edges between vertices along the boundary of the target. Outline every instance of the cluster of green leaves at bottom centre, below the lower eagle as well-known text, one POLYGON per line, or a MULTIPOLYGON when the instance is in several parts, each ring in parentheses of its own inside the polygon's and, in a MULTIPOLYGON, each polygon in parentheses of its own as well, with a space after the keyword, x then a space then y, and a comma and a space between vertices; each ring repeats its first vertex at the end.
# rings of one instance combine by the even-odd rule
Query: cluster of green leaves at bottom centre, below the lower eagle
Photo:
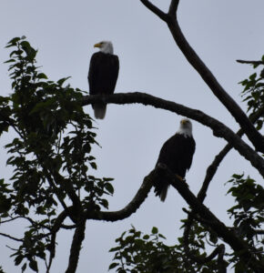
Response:
POLYGON ((216 260, 201 262, 206 257, 204 239, 208 232, 196 222, 190 233, 191 247, 187 253, 185 238, 178 238, 175 246, 168 246, 157 227, 152 227, 149 235, 132 227, 116 239, 117 247, 109 250, 115 252, 109 269, 115 269, 118 273, 218 272, 216 260), (195 261, 190 258, 190 253, 196 256, 195 261))

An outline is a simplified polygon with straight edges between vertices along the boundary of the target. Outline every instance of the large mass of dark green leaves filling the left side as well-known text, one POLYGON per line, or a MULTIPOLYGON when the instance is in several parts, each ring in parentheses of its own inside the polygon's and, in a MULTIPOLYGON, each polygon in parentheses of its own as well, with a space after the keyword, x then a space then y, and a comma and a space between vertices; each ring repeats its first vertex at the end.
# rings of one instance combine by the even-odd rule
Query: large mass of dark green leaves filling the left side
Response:
POLYGON ((14 49, 6 61, 13 93, 0 97, 0 135, 14 131, 16 136, 5 146, 14 174, 9 184, 0 180, 0 217, 30 223, 12 256, 15 265, 25 259, 22 271, 27 266, 37 271, 37 258, 46 260, 46 251, 54 252, 52 231, 61 207, 72 206, 75 222, 79 209, 107 208, 106 195, 113 195, 114 188, 111 178, 89 174, 96 169, 91 151, 97 143, 92 119, 82 107, 84 92, 65 86, 67 77, 48 80, 25 37, 15 37, 6 47, 14 49))

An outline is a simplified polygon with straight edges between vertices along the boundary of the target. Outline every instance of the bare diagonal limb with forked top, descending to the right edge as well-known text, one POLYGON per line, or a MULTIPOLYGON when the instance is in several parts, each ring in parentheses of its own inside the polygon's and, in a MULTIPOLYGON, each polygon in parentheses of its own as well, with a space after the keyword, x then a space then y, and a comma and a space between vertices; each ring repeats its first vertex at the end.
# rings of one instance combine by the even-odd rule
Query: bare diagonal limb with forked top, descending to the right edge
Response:
MULTIPOLYGON (((160 17, 159 12, 157 12, 159 10, 157 6, 152 5, 148 1, 140 1, 144 5, 147 4, 147 8, 160 17)), ((197 70, 199 76, 202 77, 213 94, 218 97, 218 100, 228 109, 229 113, 234 116, 236 121, 239 123, 239 126, 241 126, 241 128, 244 130, 254 147, 256 147, 259 152, 264 153, 264 137, 259 134, 258 130, 256 130, 256 128, 249 121, 248 116, 242 111, 235 100, 228 95, 226 90, 218 83, 217 78, 199 58, 194 49, 188 44, 187 39, 181 32, 178 25, 177 15, 172 15, 173 12, 177 11, 177 7, 178 1, 172 0, 168 11, 169 19, 167 19, 166 15, 162 15, 162 20, 167 22, 170 33, 176 44, 183 55, 187 58, 189 64, 197 70)))

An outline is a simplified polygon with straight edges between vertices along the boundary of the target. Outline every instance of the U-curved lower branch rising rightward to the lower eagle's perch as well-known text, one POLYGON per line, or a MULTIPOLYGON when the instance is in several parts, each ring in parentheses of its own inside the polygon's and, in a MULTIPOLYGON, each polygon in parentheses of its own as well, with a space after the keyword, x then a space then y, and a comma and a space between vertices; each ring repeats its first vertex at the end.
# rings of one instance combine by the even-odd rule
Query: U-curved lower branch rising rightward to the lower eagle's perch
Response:
POLYGON ((117 211, 99 211, 99 212, 91 212, 86 211, 87 219, 94 220, 105 220, 105 221, 118 221, 130 217, 132 213, 137 211, 137 208, 141 206, 141 204, 147 198, 147 194, 152 187, 152 180, 150 177, 153 177, 153 172, 144 178, 141 187, 137 190, 137 194, 133 199, 127 204, 126 207, 117 210, 117 211))

